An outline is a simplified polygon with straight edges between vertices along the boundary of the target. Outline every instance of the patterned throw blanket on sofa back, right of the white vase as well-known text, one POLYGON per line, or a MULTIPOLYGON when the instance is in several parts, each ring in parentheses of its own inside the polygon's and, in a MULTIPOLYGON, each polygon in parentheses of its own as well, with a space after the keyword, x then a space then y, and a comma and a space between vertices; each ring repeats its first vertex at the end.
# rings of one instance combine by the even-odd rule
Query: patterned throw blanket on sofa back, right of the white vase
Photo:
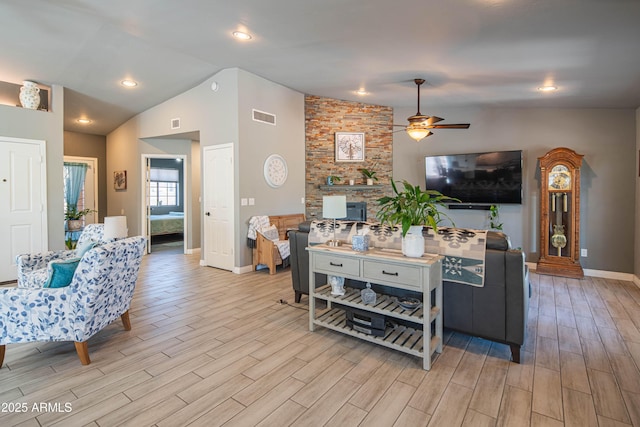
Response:
POLYGON ((484 286, 486 230, 424 227, 423 234, 426 252, 444 256, 442 280, 484 286))

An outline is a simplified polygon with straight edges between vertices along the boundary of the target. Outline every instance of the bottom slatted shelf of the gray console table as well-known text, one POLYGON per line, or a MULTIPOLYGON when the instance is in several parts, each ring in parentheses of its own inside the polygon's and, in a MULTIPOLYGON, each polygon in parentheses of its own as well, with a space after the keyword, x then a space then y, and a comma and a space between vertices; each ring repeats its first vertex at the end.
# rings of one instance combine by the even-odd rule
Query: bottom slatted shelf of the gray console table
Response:
MULTIPOLYGON (((313 320, 313 323, 323 326, 334 331, 342 332, 347 335, 358 337, 362 340, 369 341, 384 347, 402 351, 418 357, 425 357, 424 352, 424 334, 420 329, 414 329, 403 325, 386 328, 382 337, 365 334, 351 329, 347 326, 346 314, 344 310, 334 308, 320 314, 313 320)), ((428 325, 425 327, 429 327, 428 325)), ((431 357, 438 348, 441 338, 432 336, 429 343, 429 352, 426 357, 431 357)))

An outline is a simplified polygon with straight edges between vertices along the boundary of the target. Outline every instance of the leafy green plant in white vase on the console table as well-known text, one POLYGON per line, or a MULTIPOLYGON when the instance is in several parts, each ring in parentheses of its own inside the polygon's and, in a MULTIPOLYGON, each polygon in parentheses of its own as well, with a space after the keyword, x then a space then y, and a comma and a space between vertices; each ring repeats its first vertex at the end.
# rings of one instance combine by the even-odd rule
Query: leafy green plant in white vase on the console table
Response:
MULTIPOLYGON (((445 196, 439 191, 420 189, 419 185, 413 186, 406 180, 402 181, 403 190, 398 191, 395 182, 391 180, 393 196, 384 196, 377 200, 381 209, 376 217, 381 223, 402 225, 404 237, 412 225, 428 225, 434 230, 443 217, 451 221, 451 218, 438 208, 444 207, 446 202, 459 202, 453 197, 445 196)), ((453 221, 451 221, 453 224, 453 221)))

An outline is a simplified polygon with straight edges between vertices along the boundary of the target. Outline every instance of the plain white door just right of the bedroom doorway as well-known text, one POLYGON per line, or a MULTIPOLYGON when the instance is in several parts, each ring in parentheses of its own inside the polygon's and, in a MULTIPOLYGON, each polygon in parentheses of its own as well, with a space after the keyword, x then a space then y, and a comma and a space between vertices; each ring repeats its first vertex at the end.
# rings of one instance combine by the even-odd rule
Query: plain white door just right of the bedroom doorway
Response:
POLYGON ((233 144, 203 148, 204 263, 234 267, 233 144))

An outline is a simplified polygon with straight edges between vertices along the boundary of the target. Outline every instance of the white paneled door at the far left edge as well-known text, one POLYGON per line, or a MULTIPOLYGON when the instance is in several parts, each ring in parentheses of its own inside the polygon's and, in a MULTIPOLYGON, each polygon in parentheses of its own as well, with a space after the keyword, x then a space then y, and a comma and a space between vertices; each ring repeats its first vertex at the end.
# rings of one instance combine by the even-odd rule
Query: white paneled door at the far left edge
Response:
POLYGON ((47 250, 46 176, 44 141, 0 137, 0 282, 18 277, 16 255, 47 250))

